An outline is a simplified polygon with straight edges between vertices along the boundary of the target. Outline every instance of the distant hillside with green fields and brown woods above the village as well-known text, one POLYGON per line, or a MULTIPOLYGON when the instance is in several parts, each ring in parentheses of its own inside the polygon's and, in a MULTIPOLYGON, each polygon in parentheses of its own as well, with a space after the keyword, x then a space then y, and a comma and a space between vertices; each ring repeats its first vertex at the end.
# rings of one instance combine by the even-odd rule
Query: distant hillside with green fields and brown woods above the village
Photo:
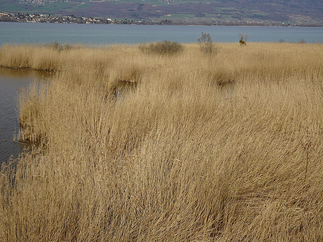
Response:
POLYGON ((0 11, 193 22, 323 23, 322 0, 2 0, 0 11))

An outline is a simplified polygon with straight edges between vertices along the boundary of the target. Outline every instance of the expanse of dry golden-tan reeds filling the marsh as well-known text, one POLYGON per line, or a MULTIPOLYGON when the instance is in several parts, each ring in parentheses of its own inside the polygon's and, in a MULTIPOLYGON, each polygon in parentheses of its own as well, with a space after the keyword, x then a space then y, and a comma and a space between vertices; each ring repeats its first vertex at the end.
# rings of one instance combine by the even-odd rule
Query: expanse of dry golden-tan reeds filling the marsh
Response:
POLYGON ((3 46, 56 74, 20 95, 0 240, 323 240, 323 46, 219 47, 3 46))

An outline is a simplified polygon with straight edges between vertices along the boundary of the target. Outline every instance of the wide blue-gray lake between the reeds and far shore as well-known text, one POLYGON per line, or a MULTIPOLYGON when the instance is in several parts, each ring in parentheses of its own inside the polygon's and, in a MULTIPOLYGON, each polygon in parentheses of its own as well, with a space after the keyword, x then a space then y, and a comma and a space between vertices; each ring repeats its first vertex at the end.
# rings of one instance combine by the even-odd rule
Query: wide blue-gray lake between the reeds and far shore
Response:
POLYGON ((323 42, 322 27, 251 26, 172 26, 172 25, 99 25, 0 22, 0 46, 4 43, 140 43, 171 40, 197 42, 201 32, 216 42, 238 42, 239 32, 248 34, 248 42, 323 42))

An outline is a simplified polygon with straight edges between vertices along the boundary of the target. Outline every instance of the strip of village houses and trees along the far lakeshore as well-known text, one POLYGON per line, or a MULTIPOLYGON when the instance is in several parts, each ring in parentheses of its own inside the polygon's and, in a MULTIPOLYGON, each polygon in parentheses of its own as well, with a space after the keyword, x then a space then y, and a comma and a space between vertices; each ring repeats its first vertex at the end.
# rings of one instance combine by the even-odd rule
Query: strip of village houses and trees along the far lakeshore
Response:
POLYGON ((62 16, 51 14, 29 14, 29 13, 1 13, 0 22, 29 22, 29 23, 74 23, 74 24, 136 24, 136 25, 222 25, 222 26, 304 26, 322 27, 322 25, 311 24, 285 24, 266 21, 225 21, 225 22, 189 22, 176 20, 133 20, 113 19, 95 17, 76 17, 74 15, 62 16))

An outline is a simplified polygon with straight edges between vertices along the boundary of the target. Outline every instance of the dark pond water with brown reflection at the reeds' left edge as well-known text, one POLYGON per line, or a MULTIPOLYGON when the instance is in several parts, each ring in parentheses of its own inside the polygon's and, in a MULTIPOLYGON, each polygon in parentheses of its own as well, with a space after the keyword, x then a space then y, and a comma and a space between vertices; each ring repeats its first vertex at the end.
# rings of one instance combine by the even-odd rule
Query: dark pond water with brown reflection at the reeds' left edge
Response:
POLYGON ((18 134, 17 97, 21 87, 27 87, 33 80, 50 77, 49 73, 28 70, 0 68, 0 164, 11 155, 18 157, 24 145, 14 142, 18 134))

